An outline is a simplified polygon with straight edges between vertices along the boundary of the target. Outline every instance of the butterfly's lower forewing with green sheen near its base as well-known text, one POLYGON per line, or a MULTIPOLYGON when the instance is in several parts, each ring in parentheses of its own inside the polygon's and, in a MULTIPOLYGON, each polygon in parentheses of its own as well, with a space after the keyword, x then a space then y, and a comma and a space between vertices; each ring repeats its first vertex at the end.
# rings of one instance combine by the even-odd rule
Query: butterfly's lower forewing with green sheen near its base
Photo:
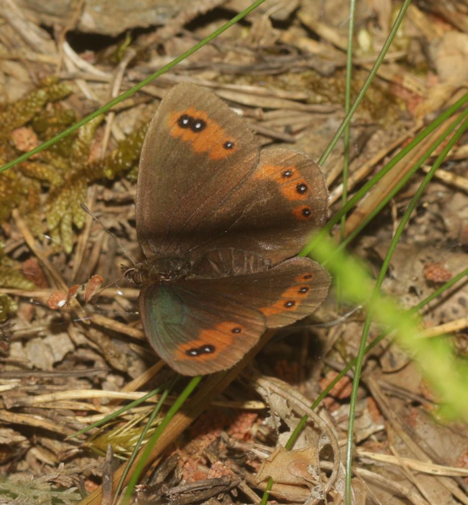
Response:
POLYGON ((140 291, 140 315, 150 344, 183 375, 231 368, 265 331, 265 317, 226 300, 217 281, 153 284, 140 291))

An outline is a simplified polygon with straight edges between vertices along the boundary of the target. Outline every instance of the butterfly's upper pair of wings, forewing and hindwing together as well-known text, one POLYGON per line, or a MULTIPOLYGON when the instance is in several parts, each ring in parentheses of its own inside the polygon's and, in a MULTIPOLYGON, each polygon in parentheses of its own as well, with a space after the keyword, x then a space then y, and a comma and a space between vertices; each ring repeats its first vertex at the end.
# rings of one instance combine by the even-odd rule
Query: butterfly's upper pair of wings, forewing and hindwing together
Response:
POLYGON ((231 246, 276 263, 296 254, 324 221, 324 177, 295 151, 258 152, 246 122, 214 93, 190 84, 169 91, 140 161, 136 216, 145 255, 231 246))

